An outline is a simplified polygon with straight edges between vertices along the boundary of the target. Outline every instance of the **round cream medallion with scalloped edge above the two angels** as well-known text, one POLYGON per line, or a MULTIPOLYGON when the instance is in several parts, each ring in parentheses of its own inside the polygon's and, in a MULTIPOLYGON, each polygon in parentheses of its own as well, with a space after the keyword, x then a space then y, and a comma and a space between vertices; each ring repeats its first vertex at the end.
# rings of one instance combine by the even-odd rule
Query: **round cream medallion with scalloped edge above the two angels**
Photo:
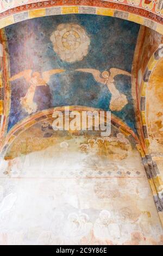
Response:
POLYGON ((65 62, 82 60, 88 52, 90 38, 82 26, 62 23, 51 35, 54 52, 65 62))

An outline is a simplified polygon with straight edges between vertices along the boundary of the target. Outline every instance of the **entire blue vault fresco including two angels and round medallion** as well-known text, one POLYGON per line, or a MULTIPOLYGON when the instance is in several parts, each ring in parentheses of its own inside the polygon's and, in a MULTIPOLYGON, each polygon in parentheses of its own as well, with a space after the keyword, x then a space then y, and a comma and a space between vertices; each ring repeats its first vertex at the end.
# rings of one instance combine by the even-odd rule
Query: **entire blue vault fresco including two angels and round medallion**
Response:
POLYGON ((8 130, 42 109, 80 105, 111 110, 135 131, 130 73, 138 32, 139 25, 128 21, 73 14, 5 28, 8 130))

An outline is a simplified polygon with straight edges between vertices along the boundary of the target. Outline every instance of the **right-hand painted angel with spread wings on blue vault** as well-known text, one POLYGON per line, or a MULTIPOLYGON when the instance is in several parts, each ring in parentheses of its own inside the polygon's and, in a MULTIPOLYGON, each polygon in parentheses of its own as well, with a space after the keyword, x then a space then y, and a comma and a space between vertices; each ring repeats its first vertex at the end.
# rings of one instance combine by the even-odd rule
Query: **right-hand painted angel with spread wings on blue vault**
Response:
POLYGON ((106 84, 111 93, 110 110, 121 111, 121 109, 128 103, 126 95, 120 93, 115 87, 114 77, 116 75, 131 76, 127 71, 121 69, 111 68, 108 71, 103 71, 102 74, 96 69, 77 69, 76 71, 91 73, 98 83, 106 84))

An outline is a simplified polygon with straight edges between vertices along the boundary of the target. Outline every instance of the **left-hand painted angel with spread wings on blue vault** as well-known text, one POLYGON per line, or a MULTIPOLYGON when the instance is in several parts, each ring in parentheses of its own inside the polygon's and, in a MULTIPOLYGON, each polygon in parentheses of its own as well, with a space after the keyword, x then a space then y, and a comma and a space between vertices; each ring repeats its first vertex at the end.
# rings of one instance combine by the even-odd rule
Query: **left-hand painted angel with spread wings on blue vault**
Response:
POLYGON ((34 113, 37 110, 37 104, 33 101, 34 94, 37 86, 47 86, 52 75, 64 72, 63 69, 52 69, 42 73, 42 76, 39 72, 33 72, 31 69, 24 70, 17 75, 14 75, 10 78, 10 81, 14 81, 19 78, 25 78, 29 84, 29 88, 24 97, 21 97, 20 102, 22 107, 25 109, 28 114, 34 113))

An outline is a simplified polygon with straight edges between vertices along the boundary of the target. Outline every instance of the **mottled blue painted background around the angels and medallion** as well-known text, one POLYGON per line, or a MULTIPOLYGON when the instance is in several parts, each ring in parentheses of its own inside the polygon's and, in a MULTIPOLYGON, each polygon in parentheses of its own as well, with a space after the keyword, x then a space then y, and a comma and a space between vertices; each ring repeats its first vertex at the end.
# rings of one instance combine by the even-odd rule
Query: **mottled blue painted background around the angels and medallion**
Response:
MULTIPOLYGON (((100 71, 119 68, 131 71, 139 25, 121 19, 97 15, 57 15, 27 20, 5 28, 8 38, 11 76, 26 69, 47 71, 66 69, 51 76, 47 87, 37 87, 34 101, 37 111, 55 106, 82 105, 109 110, 111 94, 107 86, 97 83, 91 74, 74 71, 93 68, 100 71), (53 51, 52 32, 60 23, 82 25, 90 36, 90 46, 82 61, 67 63, 53 51)), ((130 77, 118 75, 116 87, 126 94, 128 104, 122 111, 112 112, 135 131, 130 77)), ((22 78, 11 82, 11 111, 8 130, 28 116, 20 105, 20 97, 29 84, 22 78)))

